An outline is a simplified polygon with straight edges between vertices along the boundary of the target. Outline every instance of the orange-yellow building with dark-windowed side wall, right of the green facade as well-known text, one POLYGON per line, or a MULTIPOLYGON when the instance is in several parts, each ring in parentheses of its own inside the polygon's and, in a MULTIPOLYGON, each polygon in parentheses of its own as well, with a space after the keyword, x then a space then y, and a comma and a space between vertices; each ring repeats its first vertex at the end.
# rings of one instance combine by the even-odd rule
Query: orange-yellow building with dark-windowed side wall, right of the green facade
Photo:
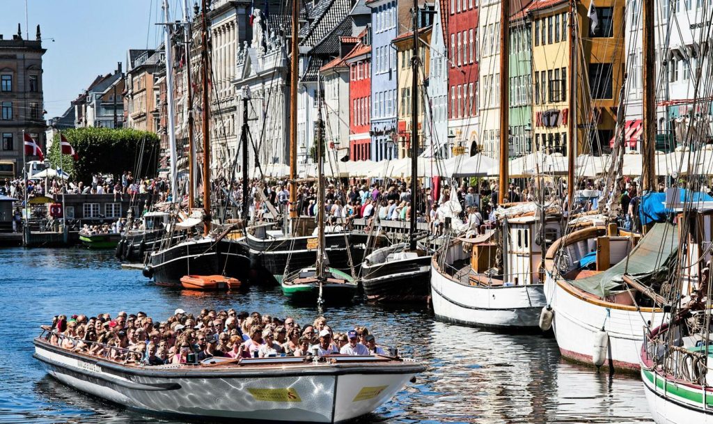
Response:
POLYGON ((538 0, 529 8, 533 43, 533 150, 568 155, 575 78, 575 155, 606 152, 615 130, 625 69, 625 0, 575 1, 575 72, 570 66, 570 2, 538 0))

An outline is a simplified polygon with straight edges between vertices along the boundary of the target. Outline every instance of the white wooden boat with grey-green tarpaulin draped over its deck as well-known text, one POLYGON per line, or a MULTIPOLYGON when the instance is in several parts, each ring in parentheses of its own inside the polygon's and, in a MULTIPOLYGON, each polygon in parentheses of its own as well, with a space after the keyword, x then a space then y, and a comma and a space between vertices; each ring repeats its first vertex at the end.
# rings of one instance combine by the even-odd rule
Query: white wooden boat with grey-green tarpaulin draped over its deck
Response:
POLYGON ((615 225, 593 226, 562 237, 548 250, 543 314, 552 312, 565 358, 638 371, 643 329, 659 326, 664 315, 647 293, 660 286, 653 274, 665 274, 662 269, 676 257, 679 234, 662 223, 631 248, 638 238, 617 232, 615 225))

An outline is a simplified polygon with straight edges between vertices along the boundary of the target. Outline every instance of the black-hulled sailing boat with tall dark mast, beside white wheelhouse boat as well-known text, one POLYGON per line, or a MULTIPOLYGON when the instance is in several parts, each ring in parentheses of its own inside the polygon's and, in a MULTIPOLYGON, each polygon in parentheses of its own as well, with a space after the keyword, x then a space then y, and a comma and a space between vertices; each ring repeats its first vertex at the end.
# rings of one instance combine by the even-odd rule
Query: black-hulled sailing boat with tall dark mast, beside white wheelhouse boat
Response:
MULTIPOLYGON (((411 56, 411 214, 409 243, 399 243, 374 250, 361 264, 361 284, 370 300, 379 302, 426 303, 429 298, 431 252, 417 246, 416 211, 419 192, 419 8, 414 1, 412 13, 413 54, 411 56)), ((426 211, 428 213, 428 211, 426 211)), ((421 238, 428 234, 421 234, 421 238)))

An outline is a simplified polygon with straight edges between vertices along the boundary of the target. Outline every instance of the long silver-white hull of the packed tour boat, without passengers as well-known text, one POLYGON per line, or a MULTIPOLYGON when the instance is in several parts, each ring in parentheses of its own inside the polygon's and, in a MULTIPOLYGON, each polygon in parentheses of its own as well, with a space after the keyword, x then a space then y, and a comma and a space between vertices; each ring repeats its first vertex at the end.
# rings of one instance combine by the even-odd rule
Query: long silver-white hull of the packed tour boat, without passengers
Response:
POLYGON ((43 335, 34 339, 34 358, 61 383, 132 410, 189 420, 352 420, 379 408, 425 369, 408 358, 341 355, 143 366, 68 351, 43 335))

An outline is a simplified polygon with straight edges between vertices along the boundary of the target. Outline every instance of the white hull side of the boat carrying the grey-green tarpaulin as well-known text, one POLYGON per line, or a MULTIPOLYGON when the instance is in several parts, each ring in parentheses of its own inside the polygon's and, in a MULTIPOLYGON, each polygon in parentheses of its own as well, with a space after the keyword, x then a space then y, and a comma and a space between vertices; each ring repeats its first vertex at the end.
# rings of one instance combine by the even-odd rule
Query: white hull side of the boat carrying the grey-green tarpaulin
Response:
POLYGON ((563 281, 558 283, 547 272, 545 294, 548 305, 554 311, 552 326, 562 356, 570 361, 593 365, 595 342, 603 326, 608 336, 608 347, 602 367, 637 371, 640 368, 645 320, 652 321, 652 328, 660 326, 663 312, 652 314, 643 309, 637 311, 634 307, 584 299, 576 295, 574 288, 565 289, 567 285, 563 281))

